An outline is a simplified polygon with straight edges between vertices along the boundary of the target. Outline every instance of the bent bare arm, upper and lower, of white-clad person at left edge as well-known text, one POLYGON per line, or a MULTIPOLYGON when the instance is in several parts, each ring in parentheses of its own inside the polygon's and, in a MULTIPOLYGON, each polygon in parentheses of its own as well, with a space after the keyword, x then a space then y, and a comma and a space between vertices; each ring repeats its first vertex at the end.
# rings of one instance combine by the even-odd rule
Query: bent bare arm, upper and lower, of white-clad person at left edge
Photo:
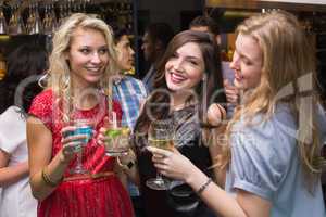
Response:
POLYGON ((8 166, 10 154, 0 149, 0 187, 10 186, 28 176, 28 163, 8 166))

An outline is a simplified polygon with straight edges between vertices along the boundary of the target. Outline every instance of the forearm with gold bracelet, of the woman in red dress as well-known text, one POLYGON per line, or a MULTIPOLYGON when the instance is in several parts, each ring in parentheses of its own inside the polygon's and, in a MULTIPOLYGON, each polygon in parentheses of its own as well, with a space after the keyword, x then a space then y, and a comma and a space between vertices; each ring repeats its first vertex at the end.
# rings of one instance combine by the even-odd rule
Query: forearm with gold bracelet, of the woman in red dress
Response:
POLYGON ((32 193, 37 200, 42 201, 48 195, 50 195, 58 187, 53 187, 46 182, 42 175, 43 169, 48 178, 53 182, 59 183, 62 179, 68 162, 63 161, 60 155, 61 152, 59 152, 48 165, 46 165, 43 168, 40 168, 37 173, 30 176, 32 193))

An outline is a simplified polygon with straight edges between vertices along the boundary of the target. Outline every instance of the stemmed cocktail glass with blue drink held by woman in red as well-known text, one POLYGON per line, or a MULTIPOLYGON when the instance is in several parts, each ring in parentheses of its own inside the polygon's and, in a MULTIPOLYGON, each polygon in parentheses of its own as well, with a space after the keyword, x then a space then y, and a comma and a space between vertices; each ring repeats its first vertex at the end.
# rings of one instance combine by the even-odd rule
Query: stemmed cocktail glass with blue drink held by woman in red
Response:
POLYGON ((76 141, 76 146, 74 152, 77 153, 76 164, 75 167, 70 170, 70 174, 77 175, 77 174, 88 174, 88 170, 83 167, 83 148, 87 145, 92 137, 92 120, 91 119, 74 119, 71 122, 70 125, 76 127, 75 130, 68 131, 65 133, 65 137, 76 137, 76 136, 84 136, 83 139, 78 139, 76 141))

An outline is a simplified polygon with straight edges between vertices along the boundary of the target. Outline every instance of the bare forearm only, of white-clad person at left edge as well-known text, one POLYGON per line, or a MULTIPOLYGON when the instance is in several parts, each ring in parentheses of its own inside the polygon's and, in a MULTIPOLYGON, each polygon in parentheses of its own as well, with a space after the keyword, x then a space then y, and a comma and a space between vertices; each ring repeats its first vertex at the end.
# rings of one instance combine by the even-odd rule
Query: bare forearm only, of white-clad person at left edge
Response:
POLYGON ((0 168, 0 187, 10 186, 28 176, 28 163, 0 168))

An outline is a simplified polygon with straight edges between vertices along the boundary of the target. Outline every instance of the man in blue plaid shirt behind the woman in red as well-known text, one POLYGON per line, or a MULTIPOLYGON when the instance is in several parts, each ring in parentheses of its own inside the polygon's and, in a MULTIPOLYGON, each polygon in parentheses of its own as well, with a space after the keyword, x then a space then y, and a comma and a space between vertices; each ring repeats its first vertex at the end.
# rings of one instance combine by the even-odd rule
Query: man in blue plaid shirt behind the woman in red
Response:
MULTIPOLYGON (((118 75, 113 80, 113 99, 122 105, 123 116, 122 126, 134 129, 139 115, 141 104, 145 102, 148 93, 141 80, 125 75, 134 66, 135 51, 130 47, 130 40, 126 29, 114 30, 114 43, 117 52, 118 75)), ((136 217, 145 216, 142 200, 138 188, 128 182, 128 190, 131 196, 136 217)))

